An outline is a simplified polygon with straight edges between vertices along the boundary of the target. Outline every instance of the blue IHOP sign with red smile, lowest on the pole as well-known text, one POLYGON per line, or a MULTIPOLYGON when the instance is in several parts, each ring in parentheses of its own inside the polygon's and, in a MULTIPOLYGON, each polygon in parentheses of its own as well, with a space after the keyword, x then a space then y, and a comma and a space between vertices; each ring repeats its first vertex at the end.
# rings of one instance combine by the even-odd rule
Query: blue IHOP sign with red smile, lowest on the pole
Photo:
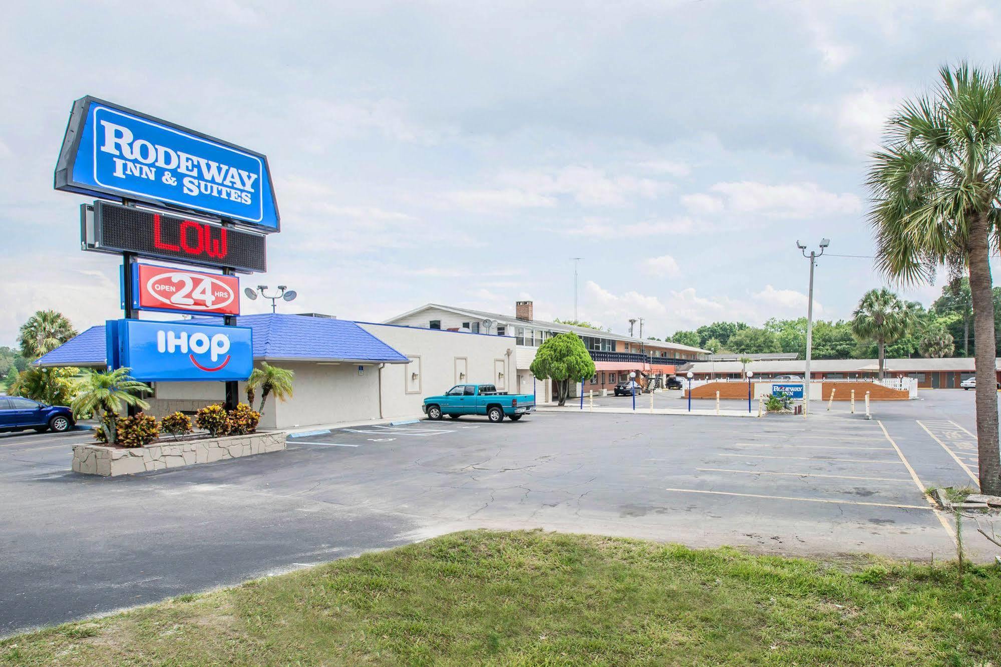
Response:
POLYGON ((105 327, 108 366, 127 367, 136 380, 238 381, 253 370, 247 326, 151 319, 112 319, 105 327))

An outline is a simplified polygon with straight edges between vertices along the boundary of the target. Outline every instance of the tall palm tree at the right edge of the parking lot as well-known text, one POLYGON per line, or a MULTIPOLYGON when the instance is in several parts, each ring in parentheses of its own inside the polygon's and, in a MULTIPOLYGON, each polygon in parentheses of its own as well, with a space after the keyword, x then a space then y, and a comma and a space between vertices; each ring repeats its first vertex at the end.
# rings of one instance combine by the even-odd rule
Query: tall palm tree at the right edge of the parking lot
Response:
POLYGON ((873 155, 869 213, 877 266, 904 283, 938 266, 966 272, 973 301, 980 488, 1001 495, 990 254, 999 246, 1001 69, 940 70, 931 95, 905 102, 873 155))

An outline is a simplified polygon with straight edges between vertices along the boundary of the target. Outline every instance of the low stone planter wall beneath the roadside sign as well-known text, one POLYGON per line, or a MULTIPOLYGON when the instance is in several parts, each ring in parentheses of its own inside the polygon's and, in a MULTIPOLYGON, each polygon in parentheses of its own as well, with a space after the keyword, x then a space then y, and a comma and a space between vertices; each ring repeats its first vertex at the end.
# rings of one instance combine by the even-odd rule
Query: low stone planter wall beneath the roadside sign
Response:
POLYGON ((116 477, 279 452, 285 449, 285 435, 284 432, 268 432, 205 440, 165 441, 130 449, 74 445, 73 472, 116 477))

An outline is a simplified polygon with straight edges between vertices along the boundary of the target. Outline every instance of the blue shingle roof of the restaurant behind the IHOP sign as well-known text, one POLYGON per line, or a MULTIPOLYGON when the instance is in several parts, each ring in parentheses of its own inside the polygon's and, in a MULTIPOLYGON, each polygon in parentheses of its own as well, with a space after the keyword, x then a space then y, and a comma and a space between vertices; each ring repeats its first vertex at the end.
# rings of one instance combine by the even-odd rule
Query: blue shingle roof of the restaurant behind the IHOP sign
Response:
MULTIPOLYGON (((218 317, 191 321, 219 322, 218 317)), ((409 360, 353 321, 292 314, 254 314, 236 318, 253 330, 254 359, 318 360, 406 364, 409 360)), ((103 366, 104 326, 91 326, 36 364, 39 366, 103 366)))

